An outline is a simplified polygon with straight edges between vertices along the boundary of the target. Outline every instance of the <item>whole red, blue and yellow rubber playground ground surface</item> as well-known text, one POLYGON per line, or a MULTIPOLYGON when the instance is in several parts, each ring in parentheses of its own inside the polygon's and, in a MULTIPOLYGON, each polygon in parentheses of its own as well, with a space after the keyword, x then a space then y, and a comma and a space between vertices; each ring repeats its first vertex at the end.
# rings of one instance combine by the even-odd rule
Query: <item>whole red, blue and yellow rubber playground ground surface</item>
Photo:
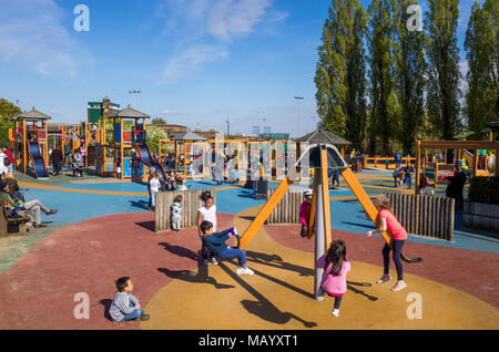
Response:
MULTIPOLYGON (((405 263, 408 287, 391 292, 395 279, 376 283, 383 273, 385 238, 365 236, 375 227, 355 189, 342 179, 339 187, 324 194, 327 206, 323 204, 330 218, 325 231, 330 230, 332 239, 345 240, 352 262, 342 314, 335 318, 330 314, 334 300, 316 299, 315 236, 302 238, 299 225, 256 228, 244 244, 254 275, 237 276, 235 260, 202 263, 195 228, 154 232, 146 183, 89 174, 75 178, 67 172, 47 179, 16 172, 26 198, 41 199, 60 211, 43 218, 47 228, 0 238, 4 283, 0 286, 0 329, 499 329, 497 234, 458 227, 452 241, 409 234, 404 251, 422 261, 405 263), (133 294, 151 314, 149 321, 110 320, 114 281, 123 276, 133 279, 133 294), (83 318, 78 314, 81 292, 89 303, 83 318), (418 299, 420 310, 415 310, 411 303, 418 299)), ((352 177, 355 180, 345 179, 361 185, 368 197, 414 194, 406 187, 394 188, 391 170, 364 168, 352 177)), ((268 187, 282 185, 274 180, 268 187)), ((187 186, 215 189, 218 228, 235 226, 241 234, 271 201, 256 199, 255 190, 242 184, 189 179, 187 186)), ((445 195, 445 185, 436 186, 435 196, 439 195, 445 195)))

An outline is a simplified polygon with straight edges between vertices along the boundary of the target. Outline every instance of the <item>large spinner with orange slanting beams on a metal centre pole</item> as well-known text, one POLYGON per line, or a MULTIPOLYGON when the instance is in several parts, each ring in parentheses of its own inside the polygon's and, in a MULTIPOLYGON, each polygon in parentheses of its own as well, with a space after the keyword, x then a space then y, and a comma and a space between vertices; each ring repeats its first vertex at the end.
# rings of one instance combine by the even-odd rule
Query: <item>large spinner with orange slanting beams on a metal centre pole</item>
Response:
MULTIPOLYGON (((314 194, 310 208, 310 224, 308 225, 307 235, 308 238, 312 238, 315 227, 315 261, 317 261, 317 259, 324 255, 329 244, 332 242, 329 187, 327 177, 328 168, 339 169, 340 175, 343 176, 349 188, 353 190, 355 197, 359 200, 360 205, 366 211, 366 215, 374 224, 376 224, 378 210, 374 206, 373 201, 370 200, 369 196, 366 194, 357 178, 354 176, 352 169, 340 156, 338 149, 333 145, 314 144, 308 146, 308 148, 302 154, 296 164, 291 169, 288 169, 285 179, 279 184, 267 203, 258 211, 257 216, 253 219, 252 224, 245 230, 245 232, 237 238, 238 247, 241 249, 244 249, 248 246, 258 229, 265 224, 266 219, 269 217, 277 204, 288 191, 291 185, 299 180, 299 169, 297 168, 299 168, 302 161, 309 161, 308 166, 315 169, 314 194)), ((391 247, 393 237, 388 232, 383 232, 381 235, 386 242, 391 247)), ((421 258, 408 259, 404 255, 401 255, 401 258, 407 262, 421 261, 421 258)), ((320 299, 318 289, 322 275, 323 269, 315 268, 314 294, 318 300, 320 299)))

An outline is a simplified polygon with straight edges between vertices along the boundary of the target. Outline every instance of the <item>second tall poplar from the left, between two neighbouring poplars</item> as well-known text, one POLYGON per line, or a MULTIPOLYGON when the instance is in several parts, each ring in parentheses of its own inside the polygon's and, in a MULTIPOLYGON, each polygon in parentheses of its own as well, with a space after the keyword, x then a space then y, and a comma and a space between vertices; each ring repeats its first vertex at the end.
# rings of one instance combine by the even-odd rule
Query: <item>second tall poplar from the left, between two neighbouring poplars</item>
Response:
MULTIPOLYGON (((396 96, 395 25, 391 19, 394 0, 373 0, 369 7, 369 139, 371 146, 381 143, 386 153, 390 139, 397 135, 399 105, 396 96)), ((395 11, 396 12, 396 11, 395 11)))

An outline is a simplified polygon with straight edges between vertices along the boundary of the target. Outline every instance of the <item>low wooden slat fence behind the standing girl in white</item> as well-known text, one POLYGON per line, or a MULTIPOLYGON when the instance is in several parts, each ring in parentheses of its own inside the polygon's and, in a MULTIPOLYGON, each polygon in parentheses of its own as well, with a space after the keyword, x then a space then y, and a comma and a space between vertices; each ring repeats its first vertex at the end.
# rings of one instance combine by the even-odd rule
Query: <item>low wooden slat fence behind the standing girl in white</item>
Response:
POLYGON ((193 190, 173 190, 160 191, 156 195, 156 209, 154 211, 154 231, 161 232, 171 230, 171 215, 170 206, 176 195, 182 195, 182 228, 197 227, 197 209, 203 206, 201 195, 210 191, 213 197, 213 203, 216 204, 216 191, 211 189, 193 189, 193 190))

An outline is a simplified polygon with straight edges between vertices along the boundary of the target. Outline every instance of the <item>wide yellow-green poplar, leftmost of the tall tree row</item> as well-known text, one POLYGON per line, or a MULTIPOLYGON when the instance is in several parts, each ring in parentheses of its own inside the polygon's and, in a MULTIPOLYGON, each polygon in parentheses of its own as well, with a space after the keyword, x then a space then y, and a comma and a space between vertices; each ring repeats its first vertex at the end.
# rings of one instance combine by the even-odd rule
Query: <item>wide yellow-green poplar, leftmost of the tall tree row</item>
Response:
POLYGON ((320 125, 355 143, 363 142, 366 131, 367 22, 359 0, 333 0, 315 74, 320 125))

